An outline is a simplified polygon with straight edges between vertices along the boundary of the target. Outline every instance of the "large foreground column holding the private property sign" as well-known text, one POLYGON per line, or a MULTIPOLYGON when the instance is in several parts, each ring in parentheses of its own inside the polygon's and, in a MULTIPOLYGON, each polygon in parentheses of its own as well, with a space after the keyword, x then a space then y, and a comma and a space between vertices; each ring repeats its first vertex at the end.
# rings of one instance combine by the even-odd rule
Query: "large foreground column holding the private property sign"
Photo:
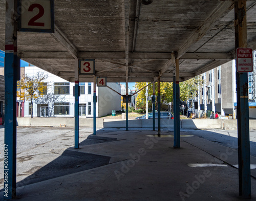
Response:
MULTIPOLYGON (((246 0, 234 2, 236 49, 247 47, 246 0)), ((236 73, 238 111, 239 195, 251 198, 248 75, 236 73)))

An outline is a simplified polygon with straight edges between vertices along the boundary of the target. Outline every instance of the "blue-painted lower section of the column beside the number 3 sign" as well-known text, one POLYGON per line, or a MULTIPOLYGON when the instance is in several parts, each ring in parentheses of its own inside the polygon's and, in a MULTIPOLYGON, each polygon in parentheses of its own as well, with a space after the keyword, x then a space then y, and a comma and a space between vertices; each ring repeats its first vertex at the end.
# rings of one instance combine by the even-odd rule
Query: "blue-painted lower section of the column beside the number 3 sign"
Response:
POLYGON ((79 81, 75 81, 75 149, 79 148, 79 81))

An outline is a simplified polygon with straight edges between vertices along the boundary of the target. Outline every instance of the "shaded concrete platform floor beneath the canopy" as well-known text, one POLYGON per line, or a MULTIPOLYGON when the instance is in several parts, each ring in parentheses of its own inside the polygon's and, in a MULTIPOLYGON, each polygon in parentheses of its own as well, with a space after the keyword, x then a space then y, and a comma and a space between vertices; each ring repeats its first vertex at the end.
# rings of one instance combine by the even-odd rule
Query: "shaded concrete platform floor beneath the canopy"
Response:
MULTIPOLYGON (((111 157, 108 165, 20 187, 18 200, 244 200, 234 167, 237 151, 184 131, 181 148, 174 149, 173 132, 163 131, 161 138, 156 134, 119 130, 90 136, 117 140, 68 150, 111 157)), ((254 157, 251 164, 256 164, 254 157)), ((256 170, 251 174, 256 177, 256 170)), ((251 189, 255 200, 254 178, 251 189)))

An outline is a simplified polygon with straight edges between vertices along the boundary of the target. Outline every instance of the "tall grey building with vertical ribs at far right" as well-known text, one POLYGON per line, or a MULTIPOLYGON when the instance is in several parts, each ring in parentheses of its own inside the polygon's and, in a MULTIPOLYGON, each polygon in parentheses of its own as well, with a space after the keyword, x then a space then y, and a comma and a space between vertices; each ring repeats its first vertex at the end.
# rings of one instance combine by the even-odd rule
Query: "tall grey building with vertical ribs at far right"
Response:
MULTIPOLYGON (((256 51, 253 51, 253 72, 248 73, 249 117, 256 119, 256 51)), ((236 117, 236 60, 229 61, 200 75, 204 86, 194 100, 195 109, 236 117)))

